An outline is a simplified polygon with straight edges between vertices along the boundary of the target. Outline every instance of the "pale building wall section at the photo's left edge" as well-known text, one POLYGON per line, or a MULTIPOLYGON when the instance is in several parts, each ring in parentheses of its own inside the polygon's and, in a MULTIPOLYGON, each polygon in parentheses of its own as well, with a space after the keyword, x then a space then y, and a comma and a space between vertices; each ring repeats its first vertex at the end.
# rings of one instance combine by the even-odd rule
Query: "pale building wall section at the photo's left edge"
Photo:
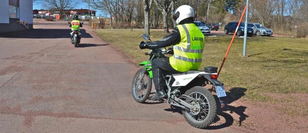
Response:
MULTIPOLYGON (((26 1, 28 1, 28 0, 26 0, 26 1)), ((1 0, 1 2, 0 2, 0 24, 1 23, 2 24, 9 24, 10 23, 9 0, 1 0)))

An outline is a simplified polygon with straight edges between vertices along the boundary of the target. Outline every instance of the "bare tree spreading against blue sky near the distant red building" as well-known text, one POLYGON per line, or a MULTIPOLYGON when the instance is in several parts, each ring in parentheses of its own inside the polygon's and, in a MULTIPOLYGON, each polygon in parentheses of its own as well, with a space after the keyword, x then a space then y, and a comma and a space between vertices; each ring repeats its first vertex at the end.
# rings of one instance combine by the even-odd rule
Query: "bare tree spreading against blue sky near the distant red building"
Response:
POLYGON ((47 5, 50 9, 59 11, 61 18, 65 10, 71 9, 75 5, 74 0, 44 0, 44 2, 45 2, 45 5, 47 5))

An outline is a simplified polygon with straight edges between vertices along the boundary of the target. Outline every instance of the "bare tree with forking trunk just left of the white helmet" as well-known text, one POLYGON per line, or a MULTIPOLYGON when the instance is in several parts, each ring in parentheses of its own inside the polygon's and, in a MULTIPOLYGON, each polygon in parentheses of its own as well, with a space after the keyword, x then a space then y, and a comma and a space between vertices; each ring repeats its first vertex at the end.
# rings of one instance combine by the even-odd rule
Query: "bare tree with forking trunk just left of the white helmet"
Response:
POLYGON ((158 9, 161 10, 163 14, 163 21, 164 21, 164 32, 165 33, 170 33, 169 32, 169 27, 168 27, 168 12, 171 8, 171 2, 172 0, 155 0, 155 3, 158 7, 158 9))

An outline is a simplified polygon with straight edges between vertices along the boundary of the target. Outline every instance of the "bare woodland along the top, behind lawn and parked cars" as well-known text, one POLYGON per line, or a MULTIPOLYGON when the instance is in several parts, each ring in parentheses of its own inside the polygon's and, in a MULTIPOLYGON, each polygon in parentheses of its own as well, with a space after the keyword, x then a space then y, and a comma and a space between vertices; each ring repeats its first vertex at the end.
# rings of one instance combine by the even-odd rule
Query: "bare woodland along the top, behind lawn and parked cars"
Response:
MULTIPOLYGON (((76 0, 43 1, 45 8, 66 10, 73 8, 76 0), (66 7, 65 7, 66 6, 66 7)), ((195 9, 195 20, 205 23, 238 21, 246 1, 244 0, 82 0, 91 9, 101 10, 107 17, 107 25, 113 29, 148 28, 169 29, 175 26, 171 14, 181 5, 195 9)), ((306 37, 308 35, 308 1, 306 0, 250 0, 248 22, 260 23, 276 34, 306 37)))

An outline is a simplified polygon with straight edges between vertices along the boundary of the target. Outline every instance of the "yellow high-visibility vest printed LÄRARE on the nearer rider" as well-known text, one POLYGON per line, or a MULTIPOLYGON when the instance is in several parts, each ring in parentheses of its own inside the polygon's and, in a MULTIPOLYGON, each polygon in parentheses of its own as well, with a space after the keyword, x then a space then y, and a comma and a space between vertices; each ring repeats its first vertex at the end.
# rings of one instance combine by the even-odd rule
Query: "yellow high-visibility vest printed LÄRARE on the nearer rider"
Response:
POLYGON ((199 70, 202 62, 204 35, 195 24, 177 26, 181 41, 173 46, 174 55, 169 58, 172 68, 180 72, 199 70))

